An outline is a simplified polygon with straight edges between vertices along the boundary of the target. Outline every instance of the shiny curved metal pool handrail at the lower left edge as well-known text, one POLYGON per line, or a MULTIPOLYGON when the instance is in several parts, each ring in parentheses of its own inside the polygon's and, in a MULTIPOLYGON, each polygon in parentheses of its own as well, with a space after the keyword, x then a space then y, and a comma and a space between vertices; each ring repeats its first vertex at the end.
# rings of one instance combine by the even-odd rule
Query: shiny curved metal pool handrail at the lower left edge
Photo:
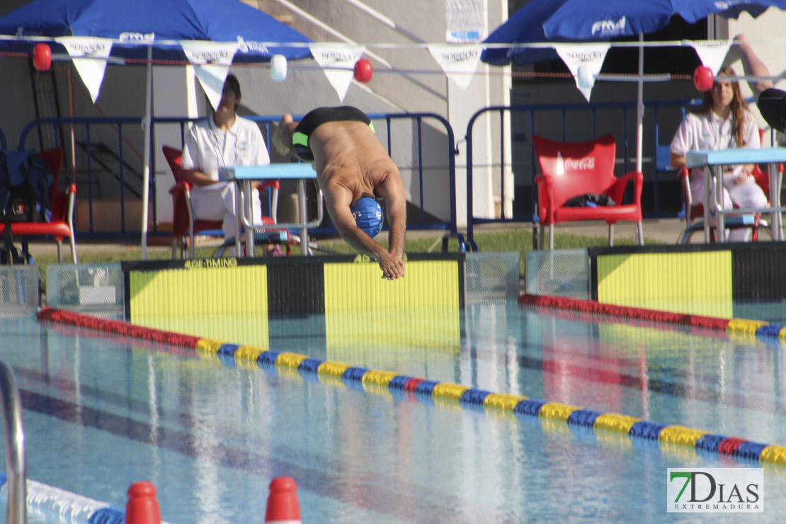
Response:
POLYGON ((28 494, 24 460, 22 403, 13 369, 5 361, 0 361, 0 406, 2 406, 3 434, 6 438, 6 482, 8 484, 6 522, 25 524, 28 522, 28 494))

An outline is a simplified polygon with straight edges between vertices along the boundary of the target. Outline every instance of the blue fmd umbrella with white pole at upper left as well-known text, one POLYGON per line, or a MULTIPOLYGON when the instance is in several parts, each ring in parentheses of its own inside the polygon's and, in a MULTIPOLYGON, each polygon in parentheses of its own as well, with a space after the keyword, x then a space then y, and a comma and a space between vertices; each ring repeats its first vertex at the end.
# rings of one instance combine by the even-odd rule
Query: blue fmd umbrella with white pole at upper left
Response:
MULTIPOLYGON (((310 38, 238 0, 35 0, 0 17, 0 45, 29 52, 36 41, 59 36, 112 38, 112 57, 146 58, 147 100, 152 93, 152 60, 185 60, 180 40, 243 42, 236 62, 310 56, 310 38), (303 43, 267 46, 264 42, 303 43)), ((51 42, 55 49, 61 47, 51 42)), ((142 170, 142 259, 147 256, 150 165, 149 103, 145 104, 142 170)))

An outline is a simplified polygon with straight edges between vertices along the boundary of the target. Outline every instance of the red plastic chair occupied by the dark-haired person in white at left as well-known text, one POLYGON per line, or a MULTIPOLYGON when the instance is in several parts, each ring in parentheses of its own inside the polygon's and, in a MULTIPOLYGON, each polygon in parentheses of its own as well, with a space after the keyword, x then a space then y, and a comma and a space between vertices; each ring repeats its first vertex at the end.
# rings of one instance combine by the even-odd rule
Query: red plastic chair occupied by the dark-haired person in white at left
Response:
MULTIPOLYGON (((193 206, 191 203, 191 187, 185 176, 185 170, 182 168, 182 151, 180 149, 172 148, 164 145, 163 156, 166 157, 169 168, 174 175, 175 185, 171 187, 169 193, 172 196, 172 258, 178 257, 178 247, 180 251, 180 258, 185 256, 185 245, 189 244, 190 258, 194 258, 194 235, 197 233, 209 234, 211 236, 223 236, 222 221, 201 220, 196 218, 193 213, 193 206)), ((278 203, 278 189, 280 185, 276 181, 266 181, 259 184, 256 189, 262 192, 264 189, 272 191, 272 200, 270 214, 273 218, 263 217, 262 222, 265 225, 275 225, 277 203, 278 203)), ((285 230, 278 230, 278 233, 285 230)), ((290 240, 288 232, 285 233, 285 241, 290 240)), ((277 236, 280 238, 281 234, 277 236)), ((229 240, 229 239, 227 239, 229 240)), ((290 254, 290 247, 287 244, 287 255, 290 254)))

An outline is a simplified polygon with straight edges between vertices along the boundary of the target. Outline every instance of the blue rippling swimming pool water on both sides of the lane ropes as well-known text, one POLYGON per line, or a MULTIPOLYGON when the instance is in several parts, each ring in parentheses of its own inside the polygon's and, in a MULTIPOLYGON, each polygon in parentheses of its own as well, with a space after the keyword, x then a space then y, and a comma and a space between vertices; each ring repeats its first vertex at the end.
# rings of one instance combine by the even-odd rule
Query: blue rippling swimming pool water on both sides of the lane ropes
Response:
MULTIPOLYGON (((382 340, 380 322, 342 343, 324 320, 271 321, 271 349, 786 444, 777 340, 512 305, 382 340)), ((758 467, 31 319, 0 321, 0 335, 28 478, 116 508, 149 480, 173 524, 261 522, 281 475, 303 522, 695 522, 666 512, 668 467, 758 467)), ((782 520, 783 473, 765 467, 765 511, 744 519, 782 520)))

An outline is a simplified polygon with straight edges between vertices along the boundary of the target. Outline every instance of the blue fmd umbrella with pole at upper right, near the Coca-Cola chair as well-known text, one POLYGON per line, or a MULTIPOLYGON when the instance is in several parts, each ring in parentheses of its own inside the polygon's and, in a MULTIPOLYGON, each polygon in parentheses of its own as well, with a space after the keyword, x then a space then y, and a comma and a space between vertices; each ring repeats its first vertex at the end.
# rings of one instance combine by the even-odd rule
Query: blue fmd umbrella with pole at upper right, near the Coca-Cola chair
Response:
MULTIPOLYGON (((592 42, 638 36, 659 31, 672 16, 694 24, 717 14, 736 18, 740 13, 758 16, 769 7, 786 9, 786 0, 532 0, 495 29, 483 43, 521 44, 532 42, 592 42)), ((636 169, 641 170, 641 135, 644 119, 644 53, 639 49, 636 169)), ((556 58, 553 49, 508 46, 487 48, 480 60, 504 65, 515 61, 530 64, 556 58)))

